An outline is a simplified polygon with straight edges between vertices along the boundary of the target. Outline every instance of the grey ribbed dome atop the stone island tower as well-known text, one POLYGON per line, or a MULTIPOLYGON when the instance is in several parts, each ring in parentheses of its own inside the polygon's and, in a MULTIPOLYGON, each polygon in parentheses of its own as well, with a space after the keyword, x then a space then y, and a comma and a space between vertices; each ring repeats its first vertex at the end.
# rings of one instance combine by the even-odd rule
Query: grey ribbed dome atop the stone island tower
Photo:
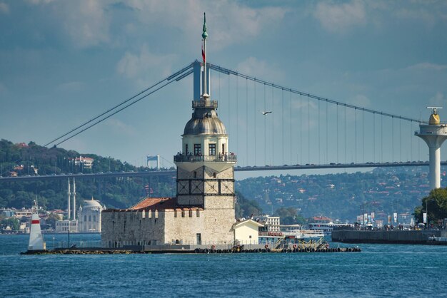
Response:
POLYGON ((224 123, 212 109, 196 109, 192 118, 186 123, 184 135, 226 135, 224 123))

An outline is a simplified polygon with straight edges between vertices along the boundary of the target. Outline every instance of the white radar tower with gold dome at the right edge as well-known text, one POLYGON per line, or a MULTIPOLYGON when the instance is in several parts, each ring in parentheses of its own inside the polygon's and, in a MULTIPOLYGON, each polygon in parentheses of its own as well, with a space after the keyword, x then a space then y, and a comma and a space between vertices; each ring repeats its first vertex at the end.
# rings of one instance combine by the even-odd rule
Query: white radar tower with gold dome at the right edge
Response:
POLYGON ((441 187, 441 145, 447 138, 447 125, 439 120, 439 107, 427 107, 432 109, 427 124, 420 124, 419 131, 414 134, 426 141, 428 145, 428 158, 430 160, 430 188, 441 187))

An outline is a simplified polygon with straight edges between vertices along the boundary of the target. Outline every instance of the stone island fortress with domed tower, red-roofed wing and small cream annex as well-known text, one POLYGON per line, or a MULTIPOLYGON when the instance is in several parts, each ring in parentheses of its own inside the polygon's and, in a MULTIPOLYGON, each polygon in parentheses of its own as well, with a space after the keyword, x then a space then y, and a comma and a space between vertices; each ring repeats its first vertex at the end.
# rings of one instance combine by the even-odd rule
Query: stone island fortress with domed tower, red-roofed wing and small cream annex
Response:
POLYGON ((211 101, 206 70, 206 23, 203 64, 199 68, 200 96, 182 136, 182 150, 174 156, 176 197, 146 197, 129 209, 102 212, 101 245, 231 245, 236 238, 257 244, 258 224, 235 220, 234 166, 228 134, 211 101), (208 85, 208 87, 207 87, 208 85))

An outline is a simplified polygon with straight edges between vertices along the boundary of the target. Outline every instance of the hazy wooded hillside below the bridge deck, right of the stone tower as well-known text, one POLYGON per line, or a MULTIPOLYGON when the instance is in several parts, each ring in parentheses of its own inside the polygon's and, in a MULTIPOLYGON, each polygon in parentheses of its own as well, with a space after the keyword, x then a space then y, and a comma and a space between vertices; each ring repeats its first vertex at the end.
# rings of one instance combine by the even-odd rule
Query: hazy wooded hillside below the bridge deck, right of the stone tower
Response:
POLYGON ((236 190, 270 213, 294 207, 299 215, 326 215, 353 222, 356 216, 375 212, 387 219, 396 211, 411 220, 414 207, 428 195, 428 167, 378 168, 371 173, 281 175, 236 182, 236 190))

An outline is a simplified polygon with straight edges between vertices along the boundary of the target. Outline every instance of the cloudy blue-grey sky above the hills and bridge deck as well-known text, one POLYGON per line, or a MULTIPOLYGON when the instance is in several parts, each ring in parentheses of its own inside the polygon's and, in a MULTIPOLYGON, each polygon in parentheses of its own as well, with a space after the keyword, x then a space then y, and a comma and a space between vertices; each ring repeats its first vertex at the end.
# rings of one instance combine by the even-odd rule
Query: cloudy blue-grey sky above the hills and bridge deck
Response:
MULTIPOLYGON (((428 119, 426 106, 446 106, 446 1, 0 0, 0 138, 44 145, 200 59, 204 11, 216 65, 415 119, 428 119)), ((338 107, 216 72, 211 86, 240 165, 427 159, 426 145, 411 137, 415 123, 382 123, 386 138, 405 136, 390 145, 376 141, 379 118, 371 136, 368 115, 348 111, 343 122, 338 107), (354 117, 366 118, 355 131, 354 117), (343 125, 363 149, 333 133, 343 125)), ((59 147, 134 165, 160 154, 170 166, 192 97, 189 76, 59 147)))

